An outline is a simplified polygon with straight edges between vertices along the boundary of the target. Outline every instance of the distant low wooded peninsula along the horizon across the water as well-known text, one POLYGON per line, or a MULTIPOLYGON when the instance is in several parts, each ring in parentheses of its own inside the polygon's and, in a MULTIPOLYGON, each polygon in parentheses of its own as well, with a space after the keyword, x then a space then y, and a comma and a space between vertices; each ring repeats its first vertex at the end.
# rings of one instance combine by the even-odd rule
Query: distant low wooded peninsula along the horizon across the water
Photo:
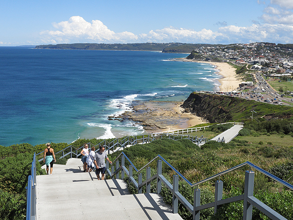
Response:
MULTIPOLYGON (((220 44, 219 44, 220 45, 220 44)), ((37 45, 36 49, 75 49, 75 50, 146 50, 163 53, 191 53, 195 48, 219 46, 218 44, 184 43, 137 43, 137 44, 48 44, 37 45)))

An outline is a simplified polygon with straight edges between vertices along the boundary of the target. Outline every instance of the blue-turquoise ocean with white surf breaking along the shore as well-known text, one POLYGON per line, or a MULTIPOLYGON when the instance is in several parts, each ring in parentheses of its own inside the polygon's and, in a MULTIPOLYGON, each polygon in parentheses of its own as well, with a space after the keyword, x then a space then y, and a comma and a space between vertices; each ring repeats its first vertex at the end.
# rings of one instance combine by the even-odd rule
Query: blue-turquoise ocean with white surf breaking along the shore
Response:
POLYGON ((155 51, 0 47, 0 145, 71 143, 144 132, 108 120, 134 100, 181 101, 219 90, 215 66, 155 51))

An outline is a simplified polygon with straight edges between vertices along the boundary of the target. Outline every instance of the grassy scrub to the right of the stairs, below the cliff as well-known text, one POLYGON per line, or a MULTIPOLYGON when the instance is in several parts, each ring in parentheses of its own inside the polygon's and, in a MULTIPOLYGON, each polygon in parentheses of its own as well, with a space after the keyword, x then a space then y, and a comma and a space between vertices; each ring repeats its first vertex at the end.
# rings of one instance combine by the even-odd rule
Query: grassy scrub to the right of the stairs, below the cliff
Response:
MULTIPOLYGON (((247 122, 245 122, 245 131, 228 144, 210 141, 199 148, 188 140, 173 141, 162 139, 145 145, 132 146, 127 148, 124 153, 138 169, 143 167, 154 156, 160 154, 192 183, 228 170, 245 161, 250 161, 293 184, 293 132, 288 135, 284 134, 282 130, 267 132, 267 130, 263 129, 262 132, 257 132, 253 130, 251 124, 246 126, 247 122), (253 136, 257 136, 261 141, 251 142, 250 139, 253 136), (270 137, 270 139, 267 139, 267 137, 270 137), (285 138, 287 140, 286 143, 278 142, 280 138, 285 138), (287 145, 288 143, 291 145, 287 145)), ((257 119, 253 124, 257 125, 259 122, 257 119)), ((210 130, 221 129, 221 126, 219 128, 217 126, 210 128, 210 130)), ((120 153, 111 154, 110 156, 114 159, 118 154, 120 153)), ((152 172, 155 172, 156 163, 153 162, 150 164, 150 167, 152 172)), ((224 198, 243 194, 244 171, 245 169, 240 169, 221 176, 221 180, 224 182, 224 198)), ((172 182, 174 172, 167 166, 163 166, 163 173, 172 182)), ((137 180, 137 175, 134 174, 133 176, 137 180)), ((143 171, 143 179, 145 177, 146 171, 143 171)), ((125 180, 128 183, 128 177, 125 180)), ((201 204, 213 201, 214 181, 208 181, 199 185, 201 189, 201 204)), ((128 189, 130 192, 136 193, 136 189, 132 184, 128 184, 128 189)), ((145 192, 144 190, 145 188, 143 188, 143 192, 145 192)), ((154 181, 151 183, 151 192, 155 193, 155 190, 156 182, 154 181)), ((183 180, 179 183, 179 192, 193 204, 193 189, 183 180)), ((172 203, 172 196, 166 187, 163 186, 161 194, 165 202, 168 204, 172 203)), ((288 191, 282 185, 271 181, 267 176, 257 172, 255 175, 254 196, 285 218, 293 219, 293 192, 288 191)), ((201 211, 201 219, 238 220, 242 219, 242 212, 243 202, 234 202, 222 206, 216 216, 213 215, 213 209, 201 211)), ((179 214, 183 219, 192 219, 191 214, 181 203, 179 203, 179 214)), ((253 209, 253 220, 261 219, 266 219, 266 217, 257 209, 253 209)))

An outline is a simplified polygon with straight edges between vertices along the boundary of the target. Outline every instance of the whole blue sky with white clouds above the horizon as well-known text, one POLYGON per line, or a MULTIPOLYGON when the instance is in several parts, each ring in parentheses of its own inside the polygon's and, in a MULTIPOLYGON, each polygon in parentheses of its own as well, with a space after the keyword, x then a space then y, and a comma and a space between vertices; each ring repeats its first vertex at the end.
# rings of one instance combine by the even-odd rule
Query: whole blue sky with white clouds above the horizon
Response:
POLYGON ((293 0, 2 0, 0 46, 293 43, 293 0))

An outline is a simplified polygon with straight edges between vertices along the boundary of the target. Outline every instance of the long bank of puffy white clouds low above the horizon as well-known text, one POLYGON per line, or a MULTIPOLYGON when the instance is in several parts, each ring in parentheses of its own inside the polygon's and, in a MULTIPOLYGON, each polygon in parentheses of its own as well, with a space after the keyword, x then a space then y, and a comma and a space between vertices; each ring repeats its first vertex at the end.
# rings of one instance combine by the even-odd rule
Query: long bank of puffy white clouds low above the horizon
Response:
POLYGON ((266 23, 254 23, 241 27, 229 25, 219 27, 217 31, 202 29, 199 31, 185 28, 165 27, 150 30, 148 33, 135 35, 131 32, 115 33, 103 22, 93 20, 86 22, 80 16, 71 17, 68 21, 54 23, 55 30, 41 33, 42 44, 61 43, 143 43, 143 42, 182 42, 231 44, 250 42, 293 42, 293 14, 284 15, 274 8, 267 8, 262 19, 266 23), (270 13, 270 14, 269 14, 270 13))

